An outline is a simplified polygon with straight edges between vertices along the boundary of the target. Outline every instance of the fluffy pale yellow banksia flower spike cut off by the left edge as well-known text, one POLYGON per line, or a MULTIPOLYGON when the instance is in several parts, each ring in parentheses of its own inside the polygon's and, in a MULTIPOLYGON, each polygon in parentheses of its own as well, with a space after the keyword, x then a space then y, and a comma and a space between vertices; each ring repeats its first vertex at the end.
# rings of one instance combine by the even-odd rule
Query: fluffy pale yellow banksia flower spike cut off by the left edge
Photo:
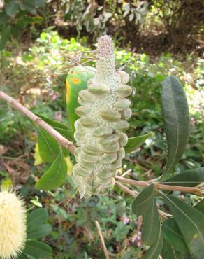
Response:
POLYGON ((24 202, 8 190, 0 192, 0 258, 17 258, 26 242, 24 202))

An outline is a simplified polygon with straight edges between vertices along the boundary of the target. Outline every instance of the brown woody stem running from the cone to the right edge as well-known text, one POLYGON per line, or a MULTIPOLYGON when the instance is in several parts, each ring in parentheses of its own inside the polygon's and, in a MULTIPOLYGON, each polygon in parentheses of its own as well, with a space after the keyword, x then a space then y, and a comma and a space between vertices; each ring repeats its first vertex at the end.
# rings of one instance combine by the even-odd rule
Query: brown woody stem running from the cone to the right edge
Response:
MULTIPOLYGON (((149 186, 150 183, 146 181, 136 181, 131 179, 126 179, 121 176, 115 176, 117 181, 130 184, 131 186, 149 186)), ((168 186, 167 184, 154 183, 155 188, 161 190, 178 190, 183 193, 193 193, 194 195, 204 196, 203 190, 196 187, 187 187, 187 186, 168 186)))

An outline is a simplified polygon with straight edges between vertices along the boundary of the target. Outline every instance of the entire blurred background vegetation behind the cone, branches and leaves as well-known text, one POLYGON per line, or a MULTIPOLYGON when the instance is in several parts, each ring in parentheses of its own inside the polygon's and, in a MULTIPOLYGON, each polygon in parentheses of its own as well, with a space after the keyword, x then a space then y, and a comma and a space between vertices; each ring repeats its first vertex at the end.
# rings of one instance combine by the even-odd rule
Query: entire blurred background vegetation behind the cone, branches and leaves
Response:
MULTIPOLYGON (((0 0, 0 89, 32 111, 68 125, 65 80, 68 67, 92 59, 103 33, 115 41, 117 67, 131 73, 133 117, 129 136, 154 137, 124 159, 133 179, 160 175, 166 161, 161 117, 161 83, 168 75, 184 85, 191 114, 191 137, 175 170, 203 166, 203 21, 201 0, 0 0)), ((94 65, 91 60, 90 66, 94 65)), ((71 201, 71 162, 66 185, 56 192, 35 190, 45 167, 38 165, 36 132, 30 121, 0 102, 0 181, 16 186, 27 207, 45 207, 53 225, 45 241, 53 258, 104 258, 94 221, 101 225, 112 258, 142 258, 140 218, 133 198, 115 187, 105 197, 71 201), (138 223, 138 225, 137 225, 138 223)), ((192 195, 182 198, 194 203, 192 195)), ((161 207, 163 204, 161 202, 161 207)))

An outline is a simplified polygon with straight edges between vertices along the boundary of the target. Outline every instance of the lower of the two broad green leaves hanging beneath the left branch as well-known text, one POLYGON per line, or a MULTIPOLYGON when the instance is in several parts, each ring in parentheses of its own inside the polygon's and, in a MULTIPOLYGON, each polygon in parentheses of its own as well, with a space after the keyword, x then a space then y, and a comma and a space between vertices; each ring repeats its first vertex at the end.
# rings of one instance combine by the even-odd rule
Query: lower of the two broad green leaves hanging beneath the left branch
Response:
POLYGON ((64 160, 62 151, 59 152, 56 160, 50 166, 48 171, 43 174, 40 180, 36 183, 38 190, 54 190, 61 186, 66 180, 67 165, 64 160))

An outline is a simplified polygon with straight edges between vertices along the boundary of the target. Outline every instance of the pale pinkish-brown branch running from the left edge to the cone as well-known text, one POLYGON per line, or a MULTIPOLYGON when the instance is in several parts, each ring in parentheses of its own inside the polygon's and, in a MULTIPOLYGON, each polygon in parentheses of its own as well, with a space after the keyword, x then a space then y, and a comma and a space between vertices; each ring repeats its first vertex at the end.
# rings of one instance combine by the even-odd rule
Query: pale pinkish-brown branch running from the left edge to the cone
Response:
POLYGON ((10 97, 8 94, 5 94, 4 92, 0 91, 0 99, 3 99, 4 101, 8 102, 11 106, 13 106, 18 111, 21 111, 24 113, 27 117, 29 117, 34 123, 42 127, 46 132, 48 132, 54 139, 56 139, 61 146, 65 146, 71 153, 74 153, 75 146, 71 141, 68 141, 65 137, 61 136, 57 130, 54 130, 48 123, 45 123, 44 120, 36 116, 34 113, 29 111, 26 107, 22 106, 20 102, 17 102, 17 100, 10 97))

